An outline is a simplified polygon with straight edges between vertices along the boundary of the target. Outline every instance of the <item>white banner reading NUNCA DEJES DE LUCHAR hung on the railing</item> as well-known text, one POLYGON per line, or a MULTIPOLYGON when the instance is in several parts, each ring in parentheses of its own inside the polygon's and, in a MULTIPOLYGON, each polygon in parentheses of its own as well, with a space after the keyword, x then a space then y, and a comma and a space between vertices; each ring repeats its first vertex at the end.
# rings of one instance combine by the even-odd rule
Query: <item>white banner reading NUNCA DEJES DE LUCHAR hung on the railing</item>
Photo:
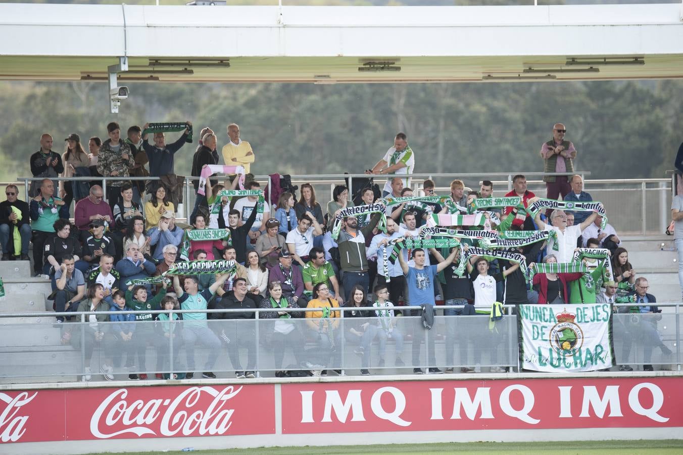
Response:
POLYGON ((594 371, 614 366, 609 304, 518 305, 522 368, 594 371))

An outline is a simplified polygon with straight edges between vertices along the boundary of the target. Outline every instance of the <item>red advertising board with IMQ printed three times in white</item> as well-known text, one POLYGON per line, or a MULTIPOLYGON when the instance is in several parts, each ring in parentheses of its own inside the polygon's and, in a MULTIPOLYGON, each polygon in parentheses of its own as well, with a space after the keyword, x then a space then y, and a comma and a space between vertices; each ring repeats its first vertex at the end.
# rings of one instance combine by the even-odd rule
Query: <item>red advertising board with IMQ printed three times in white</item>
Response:
POLYGON ((683 426, 681 378, 282 385, 283 434, 683 426))

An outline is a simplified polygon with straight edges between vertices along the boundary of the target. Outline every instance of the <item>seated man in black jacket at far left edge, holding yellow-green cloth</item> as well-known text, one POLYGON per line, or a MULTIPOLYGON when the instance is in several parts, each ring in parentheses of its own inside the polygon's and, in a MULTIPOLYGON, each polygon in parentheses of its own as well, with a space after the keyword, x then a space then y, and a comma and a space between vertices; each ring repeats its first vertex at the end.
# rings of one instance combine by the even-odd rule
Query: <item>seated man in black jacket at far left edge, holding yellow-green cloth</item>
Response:
POLYGON ((29 204, 18 199, 19 191, 16 185, 9 184, 5 189, 7 200, 0 202, 0 243, 2 243, 2 260, 17 258, 29 260, 29 240, 31 240, 31 225, 29 223, 29 204), (20 249, 14 241, 14 232, 18 231, 21 238, 20 249))

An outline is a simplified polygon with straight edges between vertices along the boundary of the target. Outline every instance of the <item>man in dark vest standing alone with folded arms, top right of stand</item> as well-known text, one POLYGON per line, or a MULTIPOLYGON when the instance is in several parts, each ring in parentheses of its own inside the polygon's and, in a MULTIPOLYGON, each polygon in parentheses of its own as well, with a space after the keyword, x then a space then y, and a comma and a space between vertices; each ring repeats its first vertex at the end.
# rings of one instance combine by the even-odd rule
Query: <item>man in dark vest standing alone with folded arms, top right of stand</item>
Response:
MULTIPOLYGON (((543 171, 547 174, 574 172, 576 149, 571 141, 564 139, 565 133, 567 133, 567 128, 561 123, 556 123, 553 125, 553 139, 545 142, 541 147, 541 157, 544 160, 543 171)), ((548 199, 556 200, 560 196, 564 199, 572 191, 567 176, 543 176, 543 181, 546 182, 548 199)))

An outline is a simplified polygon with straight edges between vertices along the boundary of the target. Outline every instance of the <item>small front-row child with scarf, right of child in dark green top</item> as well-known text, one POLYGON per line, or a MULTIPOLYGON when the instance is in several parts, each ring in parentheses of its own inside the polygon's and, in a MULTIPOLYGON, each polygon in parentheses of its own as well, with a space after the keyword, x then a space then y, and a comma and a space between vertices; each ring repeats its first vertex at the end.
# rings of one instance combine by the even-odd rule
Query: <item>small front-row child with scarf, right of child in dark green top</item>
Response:
MULTIPOLYGON (((171 309, 180 309, 178 299, 172 295, 167 295, 161 299, 161 308, 167 312, 171 309)), ((156 371, 169 371, 169 345, 173 343, 173 365, 178 366, 178 353, 182 347, 182 325, 179 324, 180 316, 178 313, 173 313, 173 318, 169 318, 169 313, 161 313, 156 315, 156 323, 154 324, 154 331, 156 332, 156 371)), ((185 374, 182 373, 183 379, 185 374)), ((157 379, 178 379, 176 373, 156 373, 157 379)))

